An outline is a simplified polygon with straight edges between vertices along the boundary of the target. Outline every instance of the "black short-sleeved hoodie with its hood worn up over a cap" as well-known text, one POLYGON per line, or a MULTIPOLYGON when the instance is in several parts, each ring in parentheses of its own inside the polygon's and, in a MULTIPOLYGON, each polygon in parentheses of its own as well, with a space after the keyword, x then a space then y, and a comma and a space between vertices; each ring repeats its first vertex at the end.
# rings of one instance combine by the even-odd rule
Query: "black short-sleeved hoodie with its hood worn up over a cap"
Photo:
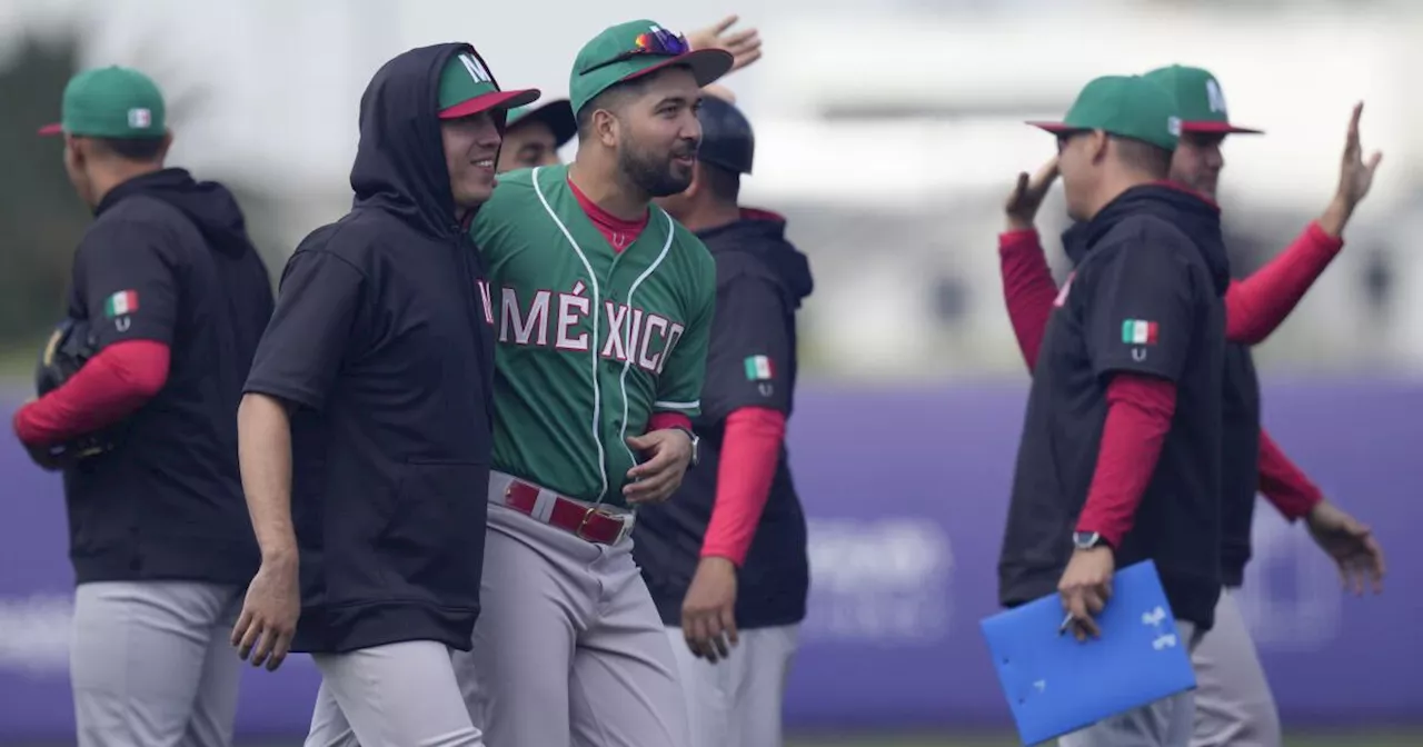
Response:
POLYGON ((289 260, 248 377, 293 406, 295 650, 470 649, 494 339, 435 115, 440 71, 464 50, 411 50, 370 81, 353 209, 289 260))

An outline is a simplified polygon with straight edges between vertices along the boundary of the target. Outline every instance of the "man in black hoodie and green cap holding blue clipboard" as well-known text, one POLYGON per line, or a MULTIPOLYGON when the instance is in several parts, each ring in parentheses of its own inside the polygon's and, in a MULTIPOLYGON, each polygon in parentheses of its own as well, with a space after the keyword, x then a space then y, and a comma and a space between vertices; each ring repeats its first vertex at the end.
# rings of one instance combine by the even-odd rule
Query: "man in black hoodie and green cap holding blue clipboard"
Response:
MULTIPOLYGON (((1220 595, 1222 295, 1215 206, 1160 184, 1180 120, 1141 77, 1087 84, 1057 135, 1074 272, 1047 323, 999 559, 1015 606, 1060 593, 1079 640, 1099 633, 1116 568, 1151 559, 1187 647, 1220 595)), ((1168 627, 1171 623, 1165 623, 1168 627)), ((1064 626, 1066 627, 1066 626, 1064 626)), ((1062 738, 1185 747, 1191 693, 1062 738)))

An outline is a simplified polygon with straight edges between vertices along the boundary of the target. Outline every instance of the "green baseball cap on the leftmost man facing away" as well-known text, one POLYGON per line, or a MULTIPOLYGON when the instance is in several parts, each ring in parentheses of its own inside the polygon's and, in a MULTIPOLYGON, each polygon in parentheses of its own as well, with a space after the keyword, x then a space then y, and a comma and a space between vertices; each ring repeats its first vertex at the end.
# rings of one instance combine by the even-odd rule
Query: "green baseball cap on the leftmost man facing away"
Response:
POLYGON ((161 138, 166 128, 164 94, 142 73, 129 67, 100 67, 70 78, 60 104, 60 121, 40 128, 41 135, 91 138, 161 138))

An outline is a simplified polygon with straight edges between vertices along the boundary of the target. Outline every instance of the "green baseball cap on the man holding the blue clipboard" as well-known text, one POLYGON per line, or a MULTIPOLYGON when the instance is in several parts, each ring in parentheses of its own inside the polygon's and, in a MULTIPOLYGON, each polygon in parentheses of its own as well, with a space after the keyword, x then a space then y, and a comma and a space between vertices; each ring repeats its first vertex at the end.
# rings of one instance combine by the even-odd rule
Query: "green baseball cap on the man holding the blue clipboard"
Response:
POLYGON ((1103 75, 1073 101, 1060 122, 1027 122, 1049 132, 1101 129, 1109 135, 1140 139, 1174 151, 1181 137, 1175 98, 1141 75, 1103 75))

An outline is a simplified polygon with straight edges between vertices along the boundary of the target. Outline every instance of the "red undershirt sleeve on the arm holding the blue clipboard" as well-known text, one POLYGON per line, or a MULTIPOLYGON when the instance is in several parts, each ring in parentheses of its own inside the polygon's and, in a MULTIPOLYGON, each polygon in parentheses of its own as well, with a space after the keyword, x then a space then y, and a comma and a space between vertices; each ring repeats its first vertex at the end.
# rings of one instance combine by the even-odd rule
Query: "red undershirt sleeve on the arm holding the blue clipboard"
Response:
POLYGON ((1131 373, 1111 377, 1097 468, 1077 531, 1097 532, 1113 548, 1121 546, 1161 457, 1174 414, 1175 384, 1171 381, 1131 373))

